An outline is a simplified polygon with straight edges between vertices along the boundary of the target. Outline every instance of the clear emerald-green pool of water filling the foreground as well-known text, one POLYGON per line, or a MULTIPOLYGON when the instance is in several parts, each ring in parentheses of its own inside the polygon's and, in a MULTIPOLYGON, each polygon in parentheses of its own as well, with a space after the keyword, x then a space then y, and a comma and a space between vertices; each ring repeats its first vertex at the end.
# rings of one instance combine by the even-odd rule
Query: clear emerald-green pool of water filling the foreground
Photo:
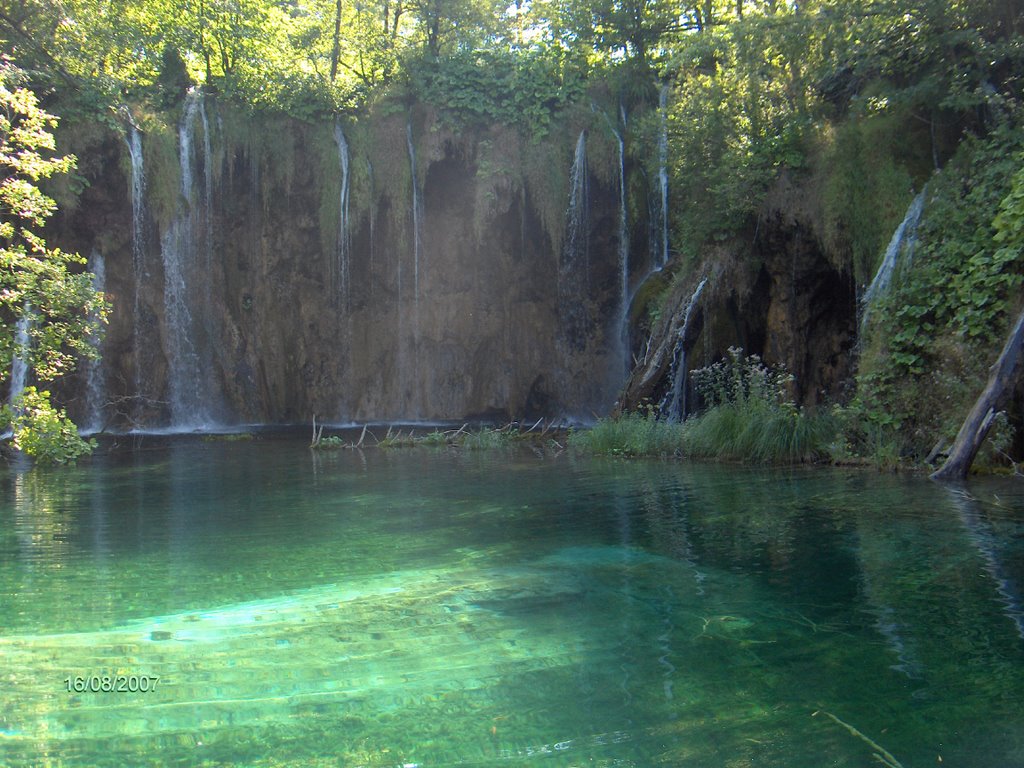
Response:
POLYGON ((1024 765, 1020 481, 266 438, 2 482, 5 766, 1024 765))

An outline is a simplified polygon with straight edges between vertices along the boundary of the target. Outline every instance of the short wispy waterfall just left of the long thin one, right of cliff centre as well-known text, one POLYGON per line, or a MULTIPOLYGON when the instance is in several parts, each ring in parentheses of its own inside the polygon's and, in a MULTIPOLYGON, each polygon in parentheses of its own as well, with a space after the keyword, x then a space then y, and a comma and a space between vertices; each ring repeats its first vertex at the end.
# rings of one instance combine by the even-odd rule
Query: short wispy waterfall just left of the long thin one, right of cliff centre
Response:
POLYGON ((569 205, 565 212, 565 240, 558 269, 558 310, 569 348, 586 346, 585 297, 590 285, 590 189, 587 173, 587 133, 580 131, 569 170, 569 205))

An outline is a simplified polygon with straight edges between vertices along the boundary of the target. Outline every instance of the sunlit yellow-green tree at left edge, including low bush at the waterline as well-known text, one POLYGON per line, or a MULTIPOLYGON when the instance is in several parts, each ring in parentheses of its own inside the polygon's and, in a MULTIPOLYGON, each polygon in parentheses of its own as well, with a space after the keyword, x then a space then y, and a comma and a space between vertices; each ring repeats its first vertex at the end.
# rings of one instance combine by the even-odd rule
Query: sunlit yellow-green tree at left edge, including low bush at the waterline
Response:
MULTIPOLYGON (((73 272, 85 260, 47 247, 38 233, 55 209, 38 182, 68 172, 75 158, 48 157, 56 118, 40 109, 20 80, 9 61, 0 62, 0 359, 6 364, 0 380, 16 355, 37 381, 47 382, 72 371, 79 358, 95 357, 89 339, 98 336, 106 306, 92 275, 73 272), (26 315, 29 343, 23 346, 14 329, 26 315)), ((74 425, 50 406, 48 392, 29 388, 26 395, 31 408, 7 408, 14 444, 56 461, 83 453, 74 425)))

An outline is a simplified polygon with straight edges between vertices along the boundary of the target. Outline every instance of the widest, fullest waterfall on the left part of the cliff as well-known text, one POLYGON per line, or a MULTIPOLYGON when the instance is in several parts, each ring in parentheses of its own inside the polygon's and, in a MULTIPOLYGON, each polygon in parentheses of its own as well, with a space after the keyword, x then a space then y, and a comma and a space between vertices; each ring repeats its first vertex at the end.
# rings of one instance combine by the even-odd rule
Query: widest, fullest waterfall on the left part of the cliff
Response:
POLYGON ((211 349, 212 170, 203 92, 193 89, 178 127, 181 206, 164 233, 164 310, 167 322, 170 416, 175 428, 212 424, 211 349), (198 119, 198 121, 197 121, 198 119), (204 129, 202 195, 196 190, 196 124, 204 129), (200 253, 202 252, 202 258, 200 253), (200 303, 202 302, 202 303, 200 303), (197 306, 197 304, 199 304, 197 306))

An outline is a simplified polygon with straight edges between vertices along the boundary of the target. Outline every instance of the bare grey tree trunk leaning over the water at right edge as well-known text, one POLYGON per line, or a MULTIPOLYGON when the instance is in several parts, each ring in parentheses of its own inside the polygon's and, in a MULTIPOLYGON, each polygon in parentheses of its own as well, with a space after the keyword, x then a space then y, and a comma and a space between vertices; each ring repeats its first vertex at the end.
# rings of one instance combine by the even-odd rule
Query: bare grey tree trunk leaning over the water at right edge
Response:
POLYGON ((932 473, 933 480, 963 480, 978 455, 981 443, 992 426, 992 419, 1004 399, 1007 390, 1017 378, 1017 370, 1021 361, 1021 345, 1024 344, 1024 311, 1017 318, 1017 325, 1010 332, 1010 337, 1002 347, 999 358, 992 366, 985 391, 974 403, 956 434, 956 441, 949 452, 949 458, 937 471, 932 473))

